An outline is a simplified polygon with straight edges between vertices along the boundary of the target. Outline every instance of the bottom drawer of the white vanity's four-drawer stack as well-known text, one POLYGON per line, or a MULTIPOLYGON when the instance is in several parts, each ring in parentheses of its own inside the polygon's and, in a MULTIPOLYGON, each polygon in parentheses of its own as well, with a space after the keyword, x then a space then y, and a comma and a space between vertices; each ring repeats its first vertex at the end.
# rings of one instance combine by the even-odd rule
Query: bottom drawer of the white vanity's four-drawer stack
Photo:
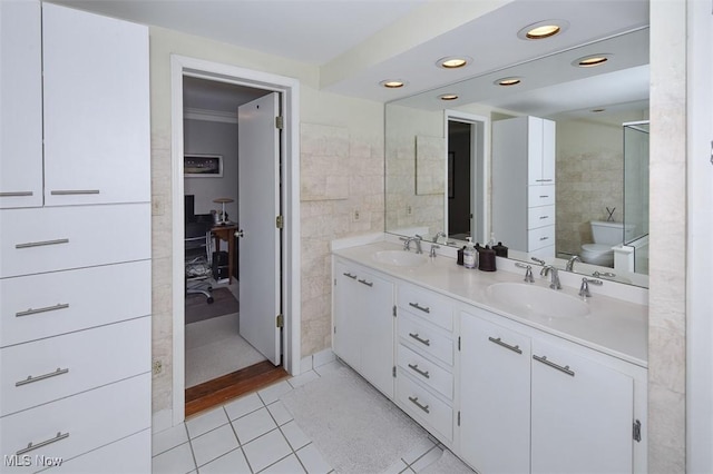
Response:
POLYGON ((448 441, 453 440, 453 408, 399 369, 397 376, 399 406, 426 429, 433 429, 448 441))

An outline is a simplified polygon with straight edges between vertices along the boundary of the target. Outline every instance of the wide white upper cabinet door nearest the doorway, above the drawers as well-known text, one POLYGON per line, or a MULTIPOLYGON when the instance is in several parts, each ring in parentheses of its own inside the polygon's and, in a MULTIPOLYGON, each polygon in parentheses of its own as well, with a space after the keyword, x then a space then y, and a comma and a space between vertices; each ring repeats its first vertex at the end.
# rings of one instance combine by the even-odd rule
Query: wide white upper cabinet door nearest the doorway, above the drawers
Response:
POLYGON ((45 204, 150 200, 146 27, 42 4, 45 204))

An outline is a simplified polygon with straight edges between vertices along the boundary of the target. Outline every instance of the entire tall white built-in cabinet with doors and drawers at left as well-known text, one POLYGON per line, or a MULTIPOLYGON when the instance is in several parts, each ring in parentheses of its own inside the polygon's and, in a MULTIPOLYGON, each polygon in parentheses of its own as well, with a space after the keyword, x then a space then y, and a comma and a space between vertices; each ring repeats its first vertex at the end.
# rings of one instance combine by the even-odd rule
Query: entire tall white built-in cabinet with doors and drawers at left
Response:
POLYGON ((148 473, 148 30, 32 0, 0 26, 0 471, 148 473))

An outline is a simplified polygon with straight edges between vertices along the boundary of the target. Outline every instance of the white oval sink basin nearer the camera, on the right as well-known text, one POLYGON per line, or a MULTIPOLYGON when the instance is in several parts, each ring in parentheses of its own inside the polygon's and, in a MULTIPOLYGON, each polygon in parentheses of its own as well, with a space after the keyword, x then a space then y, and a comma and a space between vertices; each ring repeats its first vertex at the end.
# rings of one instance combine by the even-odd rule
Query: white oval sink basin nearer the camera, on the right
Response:
POLYGON ((498 305, 526 315, 547 318, 582 317, 589 314, 589 306, 574 296, 557 289, 524 283, 496 283, 486 290, 498 305))

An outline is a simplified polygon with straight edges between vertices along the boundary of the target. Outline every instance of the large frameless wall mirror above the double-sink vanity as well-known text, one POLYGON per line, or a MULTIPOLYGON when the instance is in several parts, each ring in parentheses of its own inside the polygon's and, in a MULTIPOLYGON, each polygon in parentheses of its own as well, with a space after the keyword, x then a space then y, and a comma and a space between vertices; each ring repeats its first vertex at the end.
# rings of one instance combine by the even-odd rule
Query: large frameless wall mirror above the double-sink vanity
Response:
POLYGON ((509 258, 535 256, 646 287, 648 88, 642 27, 387 103, 385 230, 458 247, 468 236, 481 245, 495 239, 510 248, 509 258), (595 55, 607 61, 577 67, 595 55), (521 81, 499 86, 501 78, 521 81), (553 130, 553 161, 537 165, 551 167, 551 177, 537 182, 553 190, 545 199, 551 201, 534 203, 547 192, 533 196, 538 189, 527 169, 509 158, 522 134, 505 124, 531 127, 528 118, 553 130), (502 207, 504 199, 516 209, 502 207), (551 235, 533 231, 545 223, 551 235), (518 226, 530 247, 508 230, 518 226), (547 248, 533 247, 533 239, 547 248))

